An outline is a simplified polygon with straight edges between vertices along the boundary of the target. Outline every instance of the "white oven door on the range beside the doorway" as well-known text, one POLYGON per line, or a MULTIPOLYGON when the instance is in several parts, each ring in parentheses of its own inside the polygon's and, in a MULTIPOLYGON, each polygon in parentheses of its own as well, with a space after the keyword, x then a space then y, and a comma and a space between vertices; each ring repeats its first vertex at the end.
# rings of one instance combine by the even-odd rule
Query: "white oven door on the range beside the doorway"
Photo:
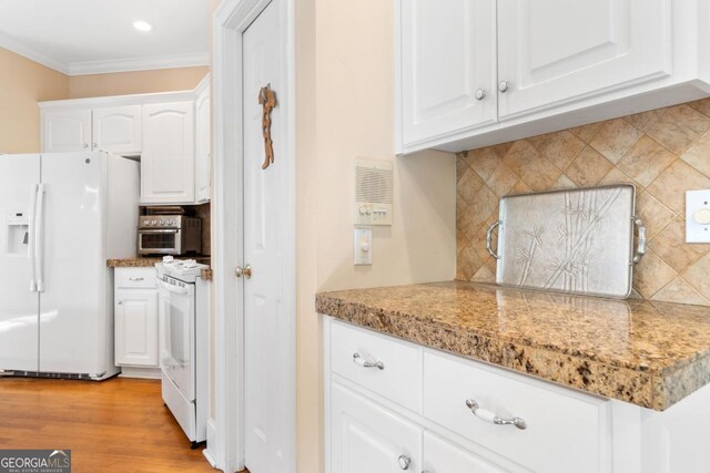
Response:
POLYGON ((161 366, 185 399, 195 399, 194 285, 175 286, 158 280, 162 322, 161 366))

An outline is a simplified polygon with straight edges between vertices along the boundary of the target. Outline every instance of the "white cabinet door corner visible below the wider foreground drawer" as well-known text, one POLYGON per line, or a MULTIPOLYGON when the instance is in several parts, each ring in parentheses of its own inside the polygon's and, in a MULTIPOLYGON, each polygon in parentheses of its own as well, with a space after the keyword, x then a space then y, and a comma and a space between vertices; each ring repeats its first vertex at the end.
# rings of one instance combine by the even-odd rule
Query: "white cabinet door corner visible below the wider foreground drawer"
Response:
POLYGON ((424 432, 424 470, 428 473, 503 473, 505 470, 429 432, 424 432))

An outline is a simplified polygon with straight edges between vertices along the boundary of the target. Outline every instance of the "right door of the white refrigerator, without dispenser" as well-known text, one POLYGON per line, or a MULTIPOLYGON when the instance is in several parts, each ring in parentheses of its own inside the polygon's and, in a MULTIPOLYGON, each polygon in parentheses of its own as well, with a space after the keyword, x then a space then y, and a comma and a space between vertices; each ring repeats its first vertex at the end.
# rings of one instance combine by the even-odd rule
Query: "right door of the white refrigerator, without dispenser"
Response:
POLYGON ((37 237, 43 372, 106 371, 105 161, 101 153, 42 155, 37 237))

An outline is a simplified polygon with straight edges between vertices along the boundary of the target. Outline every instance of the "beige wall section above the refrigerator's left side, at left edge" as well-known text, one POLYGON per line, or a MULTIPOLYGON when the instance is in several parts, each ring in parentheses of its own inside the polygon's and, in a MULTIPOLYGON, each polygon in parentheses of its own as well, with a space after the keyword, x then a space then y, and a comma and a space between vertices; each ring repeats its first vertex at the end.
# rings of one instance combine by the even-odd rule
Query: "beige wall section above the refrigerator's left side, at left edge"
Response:
POLYGON ((67 97, 67 75, 0 48, 0 153, 39 152, 37 102, 67 97))

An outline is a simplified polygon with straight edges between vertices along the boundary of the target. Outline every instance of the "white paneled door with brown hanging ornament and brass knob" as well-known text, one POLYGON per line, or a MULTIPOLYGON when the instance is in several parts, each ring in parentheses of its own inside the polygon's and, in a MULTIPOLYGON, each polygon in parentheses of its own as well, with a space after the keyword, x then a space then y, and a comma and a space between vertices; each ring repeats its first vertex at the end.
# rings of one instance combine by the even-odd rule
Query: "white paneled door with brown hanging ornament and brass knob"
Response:
POLYGON ((253 473, 292 472, 294 439, 287 419, 294 409, 286 384, 293 370, 290 326, 293 313, 284 304, 283 258, 288 235, 288 151, 285 116, 276 106, 271 133, 274 163, 262 168, 262 105, 260 90, 267 84, 285 96, 278 2, 270 3, 243 33, 243 182, 244 247, 244 411, 245 463, 253 473))

